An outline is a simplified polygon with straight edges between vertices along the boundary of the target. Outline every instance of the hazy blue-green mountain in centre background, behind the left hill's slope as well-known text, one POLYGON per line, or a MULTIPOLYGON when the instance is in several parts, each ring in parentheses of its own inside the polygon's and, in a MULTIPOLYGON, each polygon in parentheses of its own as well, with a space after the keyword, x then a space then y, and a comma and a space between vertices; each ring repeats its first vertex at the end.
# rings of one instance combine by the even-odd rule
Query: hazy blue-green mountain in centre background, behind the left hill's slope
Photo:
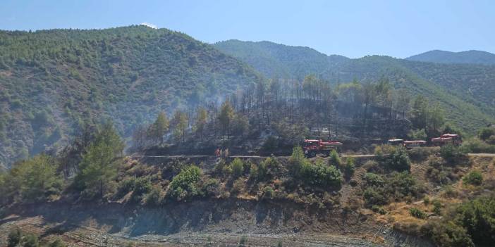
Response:
POLYGON ((306 75, 318 74, 327 68, 348 61, 345 56, 326 56, 303 46, 286 46, 273 42, 243 42, 231 39, 214 46, 262 72, 267 77, 302 80, 306 75))

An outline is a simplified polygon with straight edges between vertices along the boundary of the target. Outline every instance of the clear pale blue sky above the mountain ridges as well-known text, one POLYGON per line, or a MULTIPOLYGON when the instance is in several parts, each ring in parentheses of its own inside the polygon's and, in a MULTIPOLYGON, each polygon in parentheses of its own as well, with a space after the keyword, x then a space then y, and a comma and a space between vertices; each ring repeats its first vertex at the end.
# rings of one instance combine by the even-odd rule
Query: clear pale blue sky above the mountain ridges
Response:
POLYGON ((140 23, 189 34, 310 46, 352 58, 432 49, 495 53, 495 1, 2 0, 1 30, 140 23))

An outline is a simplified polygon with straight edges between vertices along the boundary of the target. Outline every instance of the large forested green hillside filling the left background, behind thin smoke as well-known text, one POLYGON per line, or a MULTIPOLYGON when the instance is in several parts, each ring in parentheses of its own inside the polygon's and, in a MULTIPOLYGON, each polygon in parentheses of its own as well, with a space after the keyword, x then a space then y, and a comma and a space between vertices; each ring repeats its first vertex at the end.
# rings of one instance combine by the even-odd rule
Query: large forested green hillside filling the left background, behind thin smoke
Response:
POLYGON ((111 118, 128 136, 161 110, 216 101, 258 79, 166 29, 0 31, 0 163, 60 146, 82 122, 111 118))

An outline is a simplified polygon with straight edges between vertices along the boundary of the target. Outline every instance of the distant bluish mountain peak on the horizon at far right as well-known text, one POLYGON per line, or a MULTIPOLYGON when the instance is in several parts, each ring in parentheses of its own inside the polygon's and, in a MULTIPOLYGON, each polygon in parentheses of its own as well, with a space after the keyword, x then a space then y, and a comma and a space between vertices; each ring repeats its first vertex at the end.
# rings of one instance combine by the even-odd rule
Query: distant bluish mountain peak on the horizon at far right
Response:
POLYGON ((484 65, 495 65, 495 54, 487 51, 427 51, 405 58, 409 61, 432 62, 432 63, 473 63, 484 65))

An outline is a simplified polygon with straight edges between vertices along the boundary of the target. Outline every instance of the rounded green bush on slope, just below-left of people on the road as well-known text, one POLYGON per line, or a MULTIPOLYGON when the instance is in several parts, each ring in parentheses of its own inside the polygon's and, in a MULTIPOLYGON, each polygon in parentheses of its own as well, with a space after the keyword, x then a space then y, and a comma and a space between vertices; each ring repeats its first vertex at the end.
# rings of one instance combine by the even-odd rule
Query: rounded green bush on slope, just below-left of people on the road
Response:
POLYGON ((183 168, 178 175, 173 177, 169 187, 169 196, 177 201, 199 196, 201 188, 198 186, 198 182, 200 182, 201 175, 200 167, 195 165, 183 168))

